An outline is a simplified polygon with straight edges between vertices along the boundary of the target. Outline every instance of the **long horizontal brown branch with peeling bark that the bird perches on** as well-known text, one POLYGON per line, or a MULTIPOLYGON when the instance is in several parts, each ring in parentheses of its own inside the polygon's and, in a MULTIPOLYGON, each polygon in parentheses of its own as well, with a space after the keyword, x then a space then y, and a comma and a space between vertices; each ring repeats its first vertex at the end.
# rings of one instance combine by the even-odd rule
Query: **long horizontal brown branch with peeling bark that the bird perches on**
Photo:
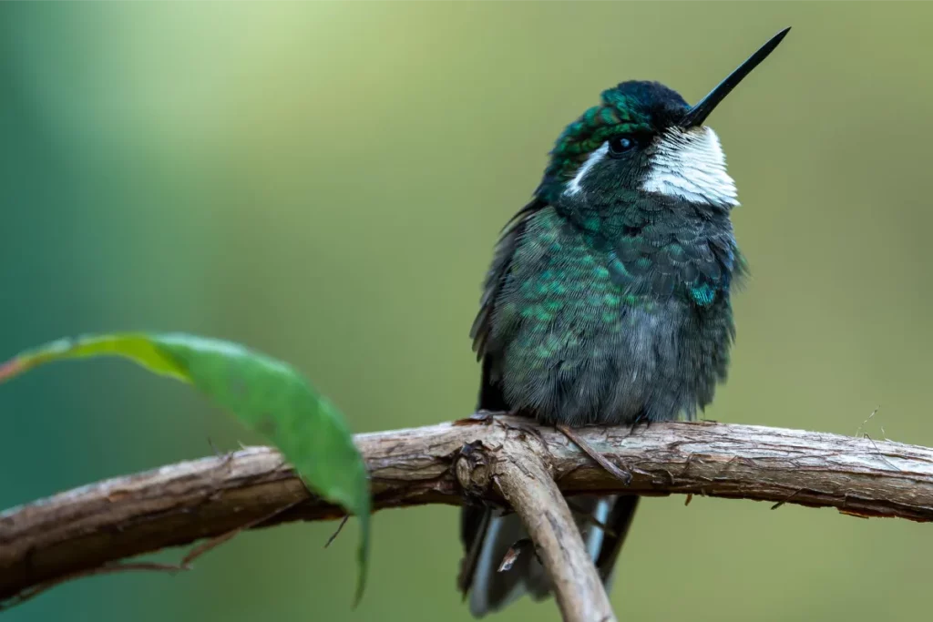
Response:
MULTIPOLYGON (((933 520, 933 449, 713 422, 656 423, 634 435, 627 428, 578 433, 633 473, 628 488, 564 435, 518 418, 496 418, 491 425, 444 423, 356 440, 369 465, 377 509, 459 505, 463 489, 452 466, 461 449, 472 444, 492 461, 497 449, 518 442, 543 443, 539 455, 566 494, 689 493, 830 506, 862 517, 933 520)), ((470 477, 476 479, 476 469, 470 477)), ((491 503, 505 503, 494 486, 480 487, 479 493, 491 503)), ((250 448, 12 508, 0 514, 0 601, 109 568, 117 560, 230 532, 299 501, 258 526, 340 518, 342 512, 309 495, 277 452, 250 448)), ((453 537, 453 525, 451 530, 453 537)))

